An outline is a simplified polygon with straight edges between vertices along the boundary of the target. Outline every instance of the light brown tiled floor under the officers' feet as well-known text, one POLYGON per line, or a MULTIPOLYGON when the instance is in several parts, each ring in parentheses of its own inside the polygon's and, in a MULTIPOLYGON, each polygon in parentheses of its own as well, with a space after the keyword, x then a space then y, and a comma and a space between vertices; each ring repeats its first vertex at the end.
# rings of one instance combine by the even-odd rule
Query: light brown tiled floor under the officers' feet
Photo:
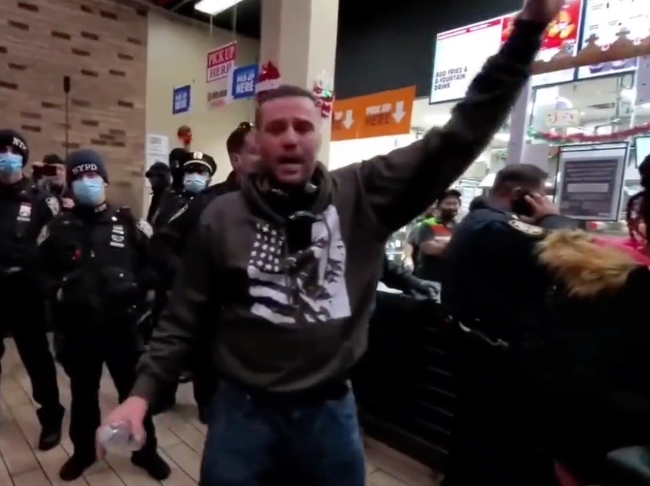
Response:
MULTIPOLYGON (((0 486, 155 486, 125 457, 109 457, 94 465, 83 478, 72 483, 59 479, 59 468, 72 453, 70 439, 49 452, 34 450, 39 426, 27 373, 12 341, 7 340, 0 382, 0 486)), ((115 406, 116 393, 107 376, 101 385, 101 406, 106 413, 115 406)), ((70 404, 68 380, 59 372, 59 386, 66 407, 70 404)), ((196 419, 187 385, 179 391, 175 411, 156 417, 160 451, 172 466, 164 486, 196 486, 205 426, 196 419)), ((66 419, 68 419, 66 415, 66 419)), ((68 422, 64 424, 67 431, 68 422)), ((368 484, 372 486, 434 486, 437 477, 430 469, 387 446, 366 440, 368 484)), ((305 485, 308 486, 308 485, 305 485)))

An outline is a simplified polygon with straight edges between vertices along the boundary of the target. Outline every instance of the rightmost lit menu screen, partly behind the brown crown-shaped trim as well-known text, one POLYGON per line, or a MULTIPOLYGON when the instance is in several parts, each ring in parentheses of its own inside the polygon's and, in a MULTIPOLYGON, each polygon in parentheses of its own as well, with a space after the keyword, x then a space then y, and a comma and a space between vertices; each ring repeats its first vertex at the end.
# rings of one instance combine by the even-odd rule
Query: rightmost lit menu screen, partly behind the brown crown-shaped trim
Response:
MULTIPOLYGON (((597 45, 607 50, 614 42, 639 45, 650 33, 650 0, 584 0, 584 34, 580 49, 597 45)), ((633 71, 636 57, 578 68, 578 79, 633 71)))

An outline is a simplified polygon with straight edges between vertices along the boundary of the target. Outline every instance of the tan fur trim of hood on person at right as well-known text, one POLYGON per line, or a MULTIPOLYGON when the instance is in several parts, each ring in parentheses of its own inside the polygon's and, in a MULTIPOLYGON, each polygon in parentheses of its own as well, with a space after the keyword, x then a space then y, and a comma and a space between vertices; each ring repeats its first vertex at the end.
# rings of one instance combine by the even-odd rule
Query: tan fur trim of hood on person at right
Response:
POLYGON ((640 258, 578 230, 551 232, 538 245, 539 260, 571 295, 593 297, 625 285, 640 258))

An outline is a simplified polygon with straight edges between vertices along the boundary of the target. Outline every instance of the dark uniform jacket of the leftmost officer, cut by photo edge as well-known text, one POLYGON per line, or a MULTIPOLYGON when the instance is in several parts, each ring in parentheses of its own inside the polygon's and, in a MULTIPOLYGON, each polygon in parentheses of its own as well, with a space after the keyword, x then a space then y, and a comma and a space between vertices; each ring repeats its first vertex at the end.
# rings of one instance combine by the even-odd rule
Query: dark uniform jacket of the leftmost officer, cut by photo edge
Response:
POLYGON ((33 269, 38 234, 59 212, 59 200, 26 177, 0 185, 1 276, 25 275, 33 269))

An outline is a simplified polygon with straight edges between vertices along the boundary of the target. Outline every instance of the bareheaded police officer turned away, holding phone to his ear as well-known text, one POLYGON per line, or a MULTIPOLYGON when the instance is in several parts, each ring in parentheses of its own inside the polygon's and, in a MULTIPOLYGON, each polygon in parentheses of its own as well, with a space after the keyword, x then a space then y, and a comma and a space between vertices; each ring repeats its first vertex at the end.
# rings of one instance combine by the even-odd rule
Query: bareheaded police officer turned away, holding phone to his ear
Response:
POLYGON ((526 401, 551 280, 536 245, 573 222, 544 195, 546 178, 534 165, 499 171, 491 197, 474 202, 443 255, 460 382, 445 486, 554 484, 526 401))

